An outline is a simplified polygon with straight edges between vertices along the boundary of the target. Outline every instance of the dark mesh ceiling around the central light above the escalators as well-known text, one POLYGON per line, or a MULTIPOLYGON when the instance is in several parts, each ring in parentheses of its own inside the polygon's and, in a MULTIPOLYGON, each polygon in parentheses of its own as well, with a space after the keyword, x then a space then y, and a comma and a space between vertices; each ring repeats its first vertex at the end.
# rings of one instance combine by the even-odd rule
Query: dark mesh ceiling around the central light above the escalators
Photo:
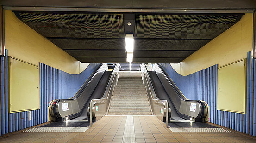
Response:
POLYGON ((197 13, 13 12, 77 60, 92 63, 126 63, 127 33, 134 34, 134 63, 179 63, 242 17, 197 13))

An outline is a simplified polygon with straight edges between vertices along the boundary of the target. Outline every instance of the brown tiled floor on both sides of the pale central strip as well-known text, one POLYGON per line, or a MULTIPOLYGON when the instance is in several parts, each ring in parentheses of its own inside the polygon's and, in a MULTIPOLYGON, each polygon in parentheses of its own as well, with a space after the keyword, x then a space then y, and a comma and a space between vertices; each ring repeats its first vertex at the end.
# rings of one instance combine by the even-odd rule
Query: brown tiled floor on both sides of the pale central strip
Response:
MULTIPOLYGON (((125 116, 105 116, 82 133, 17 133, 0 143, 122 143, 125 116)), ((156 117, 133 116, 136 143, 256 143, 238 133, 174 133, 156 117)))

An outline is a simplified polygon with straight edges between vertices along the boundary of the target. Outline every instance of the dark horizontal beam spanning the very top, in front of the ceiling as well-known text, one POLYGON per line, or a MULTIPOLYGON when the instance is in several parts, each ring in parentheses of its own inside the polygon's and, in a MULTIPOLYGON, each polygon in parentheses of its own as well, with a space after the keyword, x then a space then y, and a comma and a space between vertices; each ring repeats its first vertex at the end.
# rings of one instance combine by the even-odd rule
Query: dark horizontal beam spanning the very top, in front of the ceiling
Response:
POLYGON ((255 0, 0 0, 0 5, 76 8, 256 8, 255 0))

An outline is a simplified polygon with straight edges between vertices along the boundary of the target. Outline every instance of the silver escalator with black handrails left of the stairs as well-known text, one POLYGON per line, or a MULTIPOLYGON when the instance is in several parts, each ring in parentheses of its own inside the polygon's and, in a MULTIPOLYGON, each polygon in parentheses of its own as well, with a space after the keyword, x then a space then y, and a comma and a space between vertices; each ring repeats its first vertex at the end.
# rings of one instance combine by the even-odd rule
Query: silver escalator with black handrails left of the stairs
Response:
MULTIPOLYGON (((119 67, 118 67, 119 68, 119 67)), ((109 91, 109 84, 114 78, 113 71, 108 71, 106 64, 101 63, 74 97, 51 102, 50 115, 54 121, 88 121, 88 106, 92 99, 103 98, 109 91)), ((95 118, 94 118, 95 120, 95 118)))

